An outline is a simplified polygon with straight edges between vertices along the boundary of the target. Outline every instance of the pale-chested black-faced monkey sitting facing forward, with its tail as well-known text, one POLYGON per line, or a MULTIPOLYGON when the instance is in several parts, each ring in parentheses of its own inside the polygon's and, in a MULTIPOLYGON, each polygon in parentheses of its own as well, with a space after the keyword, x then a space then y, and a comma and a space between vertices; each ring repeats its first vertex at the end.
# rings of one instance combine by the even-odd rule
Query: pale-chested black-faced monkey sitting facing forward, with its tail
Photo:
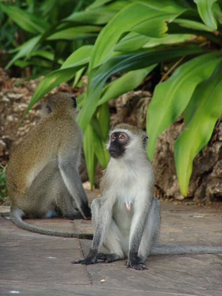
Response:
POLYGON ((222 247, 155 245, 160 232, 160 206, 153 197, 154 174, 146 152, 148 137, 138 127, 117 124, 107 148, 111 159, 100 183, 101 198, 91 206, 94 237, 86 259, 124 259, 127 267, 148 269, 148 255, 222 253, 222 247))

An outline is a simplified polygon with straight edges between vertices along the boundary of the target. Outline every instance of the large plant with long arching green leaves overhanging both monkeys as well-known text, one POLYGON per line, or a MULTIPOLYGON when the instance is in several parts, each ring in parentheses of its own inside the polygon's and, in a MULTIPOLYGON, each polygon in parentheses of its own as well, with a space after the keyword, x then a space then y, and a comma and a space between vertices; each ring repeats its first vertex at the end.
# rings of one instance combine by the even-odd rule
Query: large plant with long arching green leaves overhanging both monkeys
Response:
POLYGON ((170 78, 155 87, 147 111, 147 132, 152 160, 160 133, 185 112, 185 131, 175 143, 175 160, 180 189, 186 195, 193 158, 209 141, 222 112, 221 5, 222 0, 96 0, 56 27, 45 28, 23 44, 19 58, 21 51, 22 56, 30 56, 42 40, 75 29, 76 23, 81 28, 83 24, 102 28, 107 23, 94 45, 81 46, 41 80, 26 113, 56 85, 74 76, 76 83, 87 70, 88 85, 78 98, 77 121, 84 132, 83 148, 93 185, 97 160, 103 167, 108 162, 103 149, 109 130, 107 102, 137 87, 158 63, 174 64, 182 57, 182 65, 177 62, 169 70, 170 74, 176 69, 170 78), (116 72, 128 73, 105 85, 116 72))

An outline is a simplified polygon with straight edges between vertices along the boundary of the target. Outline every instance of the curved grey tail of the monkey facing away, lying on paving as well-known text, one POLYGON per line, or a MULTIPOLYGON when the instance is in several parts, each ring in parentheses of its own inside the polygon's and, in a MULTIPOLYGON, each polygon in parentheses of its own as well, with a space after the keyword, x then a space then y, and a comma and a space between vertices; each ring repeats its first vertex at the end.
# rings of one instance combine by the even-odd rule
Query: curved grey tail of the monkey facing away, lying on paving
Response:
POLYGON ((93 239, 92 233, 74 233, 74 232, 67 232, 67 231, 45 229, 42 227, 30 225, 22 220, 22 216, 23 216, 23 212, 19 208, 14 208, 10 212, 11 221, 14 222, 18 227, 20 227, 24 230, 28 230, 28 231, 40 233, 40 234, 45 234, 45 235, 52 235, 52 236, 93 239))

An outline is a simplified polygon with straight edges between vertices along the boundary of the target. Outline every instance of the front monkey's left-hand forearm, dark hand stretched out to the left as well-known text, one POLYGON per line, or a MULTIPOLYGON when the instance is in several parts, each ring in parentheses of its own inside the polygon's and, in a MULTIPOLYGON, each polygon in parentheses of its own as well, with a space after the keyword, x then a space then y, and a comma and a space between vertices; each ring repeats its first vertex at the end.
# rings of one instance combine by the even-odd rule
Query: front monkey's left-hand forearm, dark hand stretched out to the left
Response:
POLYGON ((97 222, 96 231, 93 236, 92 245, 89 250, 89 254, 86 259, 79 259, 72 261, 72 263, 81 263, 81 264, 95 264, 97 262, 97 254, 100 245, 104 241, 104 237, 108 232, 111 224, 111 217, 112 217, 112 207, 105 207, 104 205, 101 206, 99 220, 97 222))

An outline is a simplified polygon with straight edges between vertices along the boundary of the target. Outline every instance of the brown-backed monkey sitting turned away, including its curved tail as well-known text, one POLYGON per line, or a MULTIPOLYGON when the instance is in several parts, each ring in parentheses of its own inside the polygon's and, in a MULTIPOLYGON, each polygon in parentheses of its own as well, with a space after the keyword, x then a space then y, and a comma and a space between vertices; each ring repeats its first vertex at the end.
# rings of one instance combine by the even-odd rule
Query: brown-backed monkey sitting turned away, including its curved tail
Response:
POLYGON ((50 218, 55 211, 74 219, 91 218, 78 172, 82 132, 75 122, 76 100, 53 95, 42 105, 37 125, 16 145, 6 172, 11 220, 32 232, 92 239, 92 234, 49 230, 27 224, 26 218, 50 218))

